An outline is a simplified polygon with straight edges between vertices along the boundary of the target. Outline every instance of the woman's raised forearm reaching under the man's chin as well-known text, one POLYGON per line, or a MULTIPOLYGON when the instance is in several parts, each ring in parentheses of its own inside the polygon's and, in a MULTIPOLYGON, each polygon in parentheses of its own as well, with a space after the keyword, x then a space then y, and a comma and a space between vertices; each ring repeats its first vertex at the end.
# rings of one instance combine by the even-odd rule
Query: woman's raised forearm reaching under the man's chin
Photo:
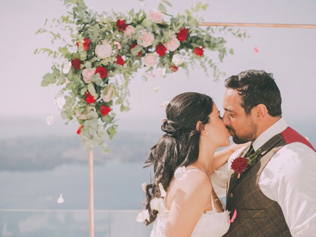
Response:
MULTIPOLYGON (((250 143, 250 142, 249 142, 250 143)), ((244 144, 233 144, 221 151, 215 152, 214 158, 210 167, 210 171, 213 172, 214 170, 217 170, 219 167, 221 167, 223 164, 225 164, 228 160, 228 158, 236 152, 239 148, 242 148, 244 146, 248 145, 248 143, 244 144)))

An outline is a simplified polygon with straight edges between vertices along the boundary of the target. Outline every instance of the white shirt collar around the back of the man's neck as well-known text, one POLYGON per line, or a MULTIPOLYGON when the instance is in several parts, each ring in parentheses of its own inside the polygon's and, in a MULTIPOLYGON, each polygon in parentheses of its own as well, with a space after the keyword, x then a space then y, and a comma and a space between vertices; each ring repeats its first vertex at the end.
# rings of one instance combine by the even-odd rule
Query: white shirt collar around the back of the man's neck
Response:
POLYGON ((278 119, 272 126, 259 135, 252 143, 253 150, 257 151, 263 144, 269 141, 276 134, 281 133, 287 128, 287 123, 283 117, 278 119))

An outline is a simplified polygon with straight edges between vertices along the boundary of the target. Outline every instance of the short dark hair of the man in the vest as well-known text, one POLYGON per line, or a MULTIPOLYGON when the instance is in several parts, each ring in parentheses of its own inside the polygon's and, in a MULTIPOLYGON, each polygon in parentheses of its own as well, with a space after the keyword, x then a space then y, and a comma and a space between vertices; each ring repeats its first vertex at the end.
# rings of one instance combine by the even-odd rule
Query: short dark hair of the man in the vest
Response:
POLYGON ((237 89, 241 107, 247 115, 258 104, 264 104, 272 117, 282 115, 281 93, 272 73, 263 70, 247 70, 225 80, 225 87, 237 89))

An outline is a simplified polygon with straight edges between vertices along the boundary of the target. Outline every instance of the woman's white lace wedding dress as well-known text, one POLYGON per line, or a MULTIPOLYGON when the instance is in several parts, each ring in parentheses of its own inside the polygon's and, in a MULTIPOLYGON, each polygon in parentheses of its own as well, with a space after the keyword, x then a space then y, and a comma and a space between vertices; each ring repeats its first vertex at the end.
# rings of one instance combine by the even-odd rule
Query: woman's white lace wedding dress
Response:
MULTIPOLYGON (((186 170, 186 172, 189 172, 189 171, 202 172, 198 169, 186 170)), ((172 184, 170 185, 170 187, 172 186, 172 184)), ((206 211, 206 213, 202 214, 202 216, 197 222, 197 225, 191 237, 222 237, 228 231, 230 227, 229 211, 226 210, 225 205, 222 203, 224 212, 217 212, 212 197, 211 197, 211 203, 212 203, 212 210, 206 211)), ((164 209, 158 213, 157 218, 154 222, 154 227, 153 227, 150 237, 163 237, 164 236, 163 232, 168 221, 168 215, 169 215, 169 210, 167 210, 164 204, 164 209)))

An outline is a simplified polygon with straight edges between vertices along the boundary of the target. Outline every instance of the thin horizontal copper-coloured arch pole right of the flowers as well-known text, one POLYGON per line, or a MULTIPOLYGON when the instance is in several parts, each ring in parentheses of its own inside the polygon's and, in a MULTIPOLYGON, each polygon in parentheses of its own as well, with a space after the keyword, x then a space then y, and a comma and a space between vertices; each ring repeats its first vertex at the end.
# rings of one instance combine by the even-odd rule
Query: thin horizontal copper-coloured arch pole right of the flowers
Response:
POLYGON ((270 27, 270 28, 312 28, 316 25, 299 24, 258 24, 258 23, 223 23, 223 22, 200 22, 199 26, 231 26, 231 27, 270 27))

